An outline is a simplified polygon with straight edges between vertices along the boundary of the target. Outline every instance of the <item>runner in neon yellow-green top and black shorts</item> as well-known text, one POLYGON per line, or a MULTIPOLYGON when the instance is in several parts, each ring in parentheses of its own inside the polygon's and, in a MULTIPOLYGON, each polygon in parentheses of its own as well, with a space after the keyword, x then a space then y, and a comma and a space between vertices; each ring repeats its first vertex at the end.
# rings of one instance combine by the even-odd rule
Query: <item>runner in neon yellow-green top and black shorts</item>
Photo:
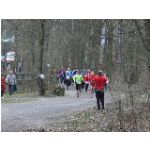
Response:
POLYGON ((79 93, 81 92, 81 84, 83 82, 83 76, 77 71, 76 75, 73 77, 74 83, 76 84, 77 97, 79 97, 79 93))

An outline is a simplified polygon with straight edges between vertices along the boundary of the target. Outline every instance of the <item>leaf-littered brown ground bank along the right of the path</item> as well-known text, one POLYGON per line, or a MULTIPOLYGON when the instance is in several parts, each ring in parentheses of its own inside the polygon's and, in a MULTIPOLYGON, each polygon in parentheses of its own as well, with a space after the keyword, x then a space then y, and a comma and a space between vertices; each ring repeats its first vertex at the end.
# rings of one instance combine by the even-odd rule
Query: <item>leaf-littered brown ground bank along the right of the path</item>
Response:
POLYGON ((119 113, 116 102, 108 104, 104 111, 91 108, 78 114, 68 115, 47 128, 26 131, 148 132, 150 131, 150 105, 146 102, 134 103, 134 112, 132 112, 129 103, 122 103, 122 111, 119 113))

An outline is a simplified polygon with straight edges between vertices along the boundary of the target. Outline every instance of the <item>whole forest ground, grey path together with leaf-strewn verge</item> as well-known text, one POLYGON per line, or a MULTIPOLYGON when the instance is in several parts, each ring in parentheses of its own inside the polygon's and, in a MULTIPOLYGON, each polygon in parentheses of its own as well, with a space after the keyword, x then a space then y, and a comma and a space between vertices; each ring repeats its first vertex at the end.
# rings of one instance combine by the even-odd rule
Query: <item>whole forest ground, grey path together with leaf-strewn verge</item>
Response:
POLYGON ((136 101, 134 112, 129 103, 122 102, 119 112, 118 102, 113 102, 110 92, 106 92, 106 109, 99 111, 95 97, 90 96, 82 92, 77 98, 71 89, 64 97, 32 97, 34 101, 2 103, 2 131, 150 131, 150 105, 146 101, 136 101))

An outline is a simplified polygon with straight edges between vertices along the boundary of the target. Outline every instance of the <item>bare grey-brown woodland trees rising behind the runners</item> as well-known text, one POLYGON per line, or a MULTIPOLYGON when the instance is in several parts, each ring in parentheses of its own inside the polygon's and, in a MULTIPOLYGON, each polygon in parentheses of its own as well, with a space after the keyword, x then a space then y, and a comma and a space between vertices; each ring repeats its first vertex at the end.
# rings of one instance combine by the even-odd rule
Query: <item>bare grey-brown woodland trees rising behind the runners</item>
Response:
POLYGON ((24 73, 49 74, 47 64, 103 69, 113 89, 149 88, 150 20, 2 20, 1 28, 2 36, 15 36, 24 73))

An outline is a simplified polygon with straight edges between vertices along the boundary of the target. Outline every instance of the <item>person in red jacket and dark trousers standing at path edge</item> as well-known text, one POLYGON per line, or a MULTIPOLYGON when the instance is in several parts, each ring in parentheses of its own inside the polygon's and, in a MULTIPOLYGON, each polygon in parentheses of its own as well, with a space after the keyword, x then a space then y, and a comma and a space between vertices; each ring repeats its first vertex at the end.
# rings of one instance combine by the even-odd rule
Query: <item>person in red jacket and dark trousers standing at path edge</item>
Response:
POLYGON ((97 99, 97 107, 100 109, 100 103, 102 105, 102 109, 105 109, 104 107, 104 88, 107 83, 108 78, 103 75, 102 71, 98 72, 98 75, 94 77, 95 82, 95 94, 97 99))

